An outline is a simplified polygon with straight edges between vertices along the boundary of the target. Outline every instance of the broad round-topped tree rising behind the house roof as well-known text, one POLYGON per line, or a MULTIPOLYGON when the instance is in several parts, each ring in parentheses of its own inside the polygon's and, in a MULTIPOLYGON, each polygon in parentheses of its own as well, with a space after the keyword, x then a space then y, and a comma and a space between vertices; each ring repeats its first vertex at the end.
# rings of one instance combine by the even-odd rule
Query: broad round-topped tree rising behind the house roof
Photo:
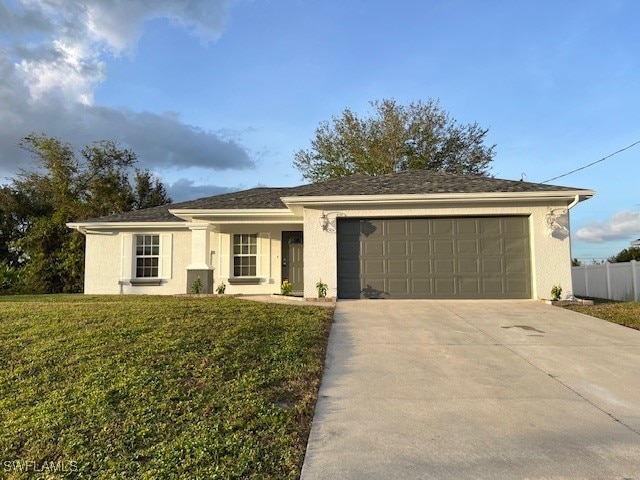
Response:
POLYGON ((374 112, 367 118, 347 108, 320 124, 311 148, 294 154, 304 178, 318 182, 408 169, 488 175, 495 155, 495 145, 484 144, 488 129, 459 124, 435 100, 370 104, 374 112))

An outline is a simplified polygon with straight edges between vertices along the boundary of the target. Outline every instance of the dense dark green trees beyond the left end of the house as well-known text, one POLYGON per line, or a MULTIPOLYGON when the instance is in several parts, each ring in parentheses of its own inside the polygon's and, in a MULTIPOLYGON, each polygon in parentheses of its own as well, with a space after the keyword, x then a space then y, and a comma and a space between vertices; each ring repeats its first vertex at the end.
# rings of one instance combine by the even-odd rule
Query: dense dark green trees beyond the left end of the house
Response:
POLYGON ((84 238, 68 222, 171 201, 158 179, 135 169, 135 153, 115 142, 96 142, 78 154, 59 139, 30 135, 20 146, 37 166, 0 190, 0 228, 6 227, 0 250, 17 257, 11 265, 20 266, 28 291, 82 291, 84 238))

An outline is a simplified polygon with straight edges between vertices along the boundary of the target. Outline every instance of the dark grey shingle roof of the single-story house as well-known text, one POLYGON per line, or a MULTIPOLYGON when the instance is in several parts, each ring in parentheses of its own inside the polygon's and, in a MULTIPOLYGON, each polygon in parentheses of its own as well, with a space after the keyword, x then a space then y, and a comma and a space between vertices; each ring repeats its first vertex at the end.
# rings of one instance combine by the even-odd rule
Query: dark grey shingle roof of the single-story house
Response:
POLYGON ((428 170, 407 170, 372 177, 348 177, 298 187, 252 188, 187 202, 118 213, 88 222, 182 222, 173 209, 278 209, 286 208, 282 197, 343 195, 411 195, 437 193, 498 193, 579 191, 583 189, 541 183, 502 180, 477 175, 454 175, 428 170))

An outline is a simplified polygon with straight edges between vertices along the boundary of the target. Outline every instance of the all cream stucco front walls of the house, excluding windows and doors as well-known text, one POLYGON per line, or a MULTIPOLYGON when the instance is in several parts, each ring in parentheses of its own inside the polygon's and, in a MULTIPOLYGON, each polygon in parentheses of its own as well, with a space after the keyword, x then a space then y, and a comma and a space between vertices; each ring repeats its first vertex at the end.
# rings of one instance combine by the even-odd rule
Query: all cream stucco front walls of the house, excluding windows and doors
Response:
MULTIPOLYGON (((438 207, 387 207, 362 208, 358 206, 323 209, 305 208, 304 224, 227 224, 213 225, 209 233, 208 254, 200 255, 213 269, 214 285, 224 282, 228 294, 279 293, 281 275, 281 238, 283 231, 299 231, 304 228, 304 296, 317 296, 316 283, 322 279, 328 285, 328 296, 337 296, 337 244, 335 228, 322 228, 323 211, 332 212, 329 217, 335 227, 336 217, 434 217, 525 215, 529 217, 531 245, 532 297, 549 298, 553 285, 561 285, 564 294, 572 291, 571 250, 567 237, 550 235, 545 216, 549 208, 566 208, 564 204, 534 206, 482 205, 461 208, 438 207), (259 234, 260 282, 256 285, 229 284, 232 272, 231 242, 235 233, 259 234)), ((188 226, 182 230, 136 229, 118 233, 87 233, 85 258, 85 293, 88 294, 180 294, 187 293, 187 267, 192 264, 192 232, 188 226), (172 269, 170 278, 161 286, 132 286, 122 280, 123 235, 157 233, 172 235, 172 269)), ((196 242, 198 243, 198 242, 196 242)), ((200 242, 201 243, 201 242, 200 242)), ((201 264, 201 263, 200 263, 201 264)))

